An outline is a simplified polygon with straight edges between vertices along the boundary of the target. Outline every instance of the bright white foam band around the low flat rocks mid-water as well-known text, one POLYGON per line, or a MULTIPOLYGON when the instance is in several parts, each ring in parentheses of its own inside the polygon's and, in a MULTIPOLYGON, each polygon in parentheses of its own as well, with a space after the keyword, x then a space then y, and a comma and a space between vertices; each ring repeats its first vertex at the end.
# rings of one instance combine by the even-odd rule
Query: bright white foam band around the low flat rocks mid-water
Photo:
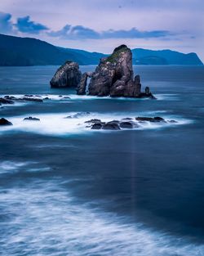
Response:
MULTIPOLYGON (((156 113, 155 113, 156 115, 156 113)), ((155 116, 152 115, 152 116, 155 116)), ((27 115, 28 116, 28 115, 27 115)), ((5 131, 24 131, 24 132, 34 132, 43 135, 69 135, 74 133, 82 133, 82 132, 96 132, 96 130, 91 130, 88 124, 85 122, 90 119, 100 119, 104 122, 112 121, 113 119, 121 120, 126 117, 131 117, 135 119, 136 116, 149 116, 148 113, 135 113, 131 114, 131 116, 127 116, 125 113, 111 113, 111 114, 100 114, 100 113, 87 113, 87 112, 70 112, 70 113, 59 113, 59 114, 33 114, 33 117, 37 117, 40 121, 30 121, 24 120, 27 116, 17 116, 13 118, 9 118, 9 121, 13 124, 13 126, 5 126, 0 129, 0 134, 5 131), (79 116, 78 118, 74 116, 76 114, 79 116), (66 118, 67 116, 73 116, 73 118, 66 118)), ((139 125, 139 128, 134 128, 136 130, 141 129, 158 129, 158 128, 166 128, 166 127, 174 127, 178 125, 190 124, 192 121, 188 119, 184 119, 181 117, 167 115, 166 113, 162 115, 164 119, 171 120, 174 119, 176 123, 153 123, 153 122, 136 122, 135 124, 139 125)), ((119 130, 118 132, 121 132, 119 130)), ((99 130, 97 130, 99 132, 99 130)), ((116 132, 116 131, 104 131, 100 130, 100 132, 116 132)))

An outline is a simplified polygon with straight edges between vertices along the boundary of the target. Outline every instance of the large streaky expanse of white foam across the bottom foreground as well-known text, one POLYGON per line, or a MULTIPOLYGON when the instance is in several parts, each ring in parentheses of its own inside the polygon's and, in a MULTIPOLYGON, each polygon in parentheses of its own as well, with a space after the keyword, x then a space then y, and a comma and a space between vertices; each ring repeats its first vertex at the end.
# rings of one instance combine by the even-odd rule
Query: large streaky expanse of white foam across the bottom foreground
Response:
POLYGON ((128 222, 104 212, 99 202, 79 203, 58 182, 0 191, 1 214, 9 216, 0 223, 2 255, 204 255, 204 245, 128 222))

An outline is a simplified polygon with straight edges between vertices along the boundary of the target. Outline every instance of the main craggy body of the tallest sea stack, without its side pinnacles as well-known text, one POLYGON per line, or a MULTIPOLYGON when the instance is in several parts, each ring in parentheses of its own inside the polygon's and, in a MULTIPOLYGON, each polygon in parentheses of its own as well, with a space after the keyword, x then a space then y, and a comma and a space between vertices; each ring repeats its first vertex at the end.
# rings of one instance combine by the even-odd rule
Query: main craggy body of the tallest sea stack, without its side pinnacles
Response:
POLYGON ((135 91, 131 49, 122 45, 103 58, 89 85, 89 94, 98 96, 131 96, 135 91))

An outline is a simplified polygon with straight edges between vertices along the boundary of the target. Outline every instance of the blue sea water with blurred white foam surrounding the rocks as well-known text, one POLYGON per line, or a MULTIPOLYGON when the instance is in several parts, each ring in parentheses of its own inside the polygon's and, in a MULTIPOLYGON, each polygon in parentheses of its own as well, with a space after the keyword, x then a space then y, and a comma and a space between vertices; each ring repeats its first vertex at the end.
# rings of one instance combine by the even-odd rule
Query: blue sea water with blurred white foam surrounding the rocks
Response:
POLYGON ((56 68, 0 68, 2 96, 51 98, 0 106, 0 255, 204 255, 204 68, 135 66, 155 101, 51 89, 56 68), (139 115, 177 123, 84 125, 139 115))

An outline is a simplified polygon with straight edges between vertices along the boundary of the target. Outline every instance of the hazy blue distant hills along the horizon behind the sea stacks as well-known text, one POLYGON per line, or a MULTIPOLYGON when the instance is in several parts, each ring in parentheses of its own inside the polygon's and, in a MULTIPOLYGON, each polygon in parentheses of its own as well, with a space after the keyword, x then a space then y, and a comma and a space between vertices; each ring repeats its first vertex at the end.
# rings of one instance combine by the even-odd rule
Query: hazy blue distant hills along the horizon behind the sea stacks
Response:
MULTIPOLYGON (((131 50, 135 65, 203 65, 196 53, 184 54, 171 50, 131 50)), ((0 65, 62 65, 75 61, 79 65, 96 65, 107 56, 99 52, 55 47, 35 38, 19 38, 0 34, 0 65)))

